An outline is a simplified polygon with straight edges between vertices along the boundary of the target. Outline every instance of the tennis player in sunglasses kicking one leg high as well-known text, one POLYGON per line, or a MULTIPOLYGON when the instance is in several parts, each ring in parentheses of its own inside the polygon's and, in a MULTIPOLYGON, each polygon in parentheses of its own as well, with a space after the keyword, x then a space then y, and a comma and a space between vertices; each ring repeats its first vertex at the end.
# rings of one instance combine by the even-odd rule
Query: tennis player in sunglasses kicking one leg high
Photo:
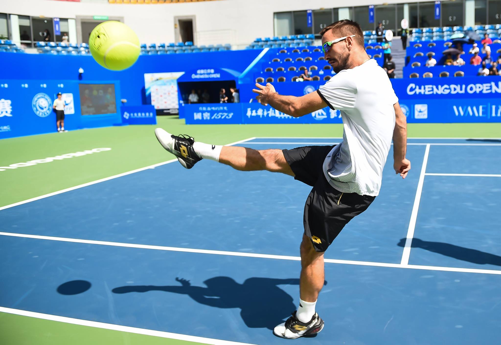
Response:
POLYGON ((324 284, 324 252, 355 216, 379 194, 393 138, 393 167, 405 179, 410 161, 405 158, 407 124, 386 72, 370 59, 358 23, 342 20, 320 33, 326 61, 336 75, 317 92, 294 97, 279 95, 272 84, 256 84, 261 104, 294 117, 329 106, 341 112, 343 142, 335 146, 254 150, 219 146, 155 130, 162 146, 186 168, 202 158, 237 170, 282 172, 313 187, 304 211, 305 232, 300 247, 300 303, 274 333, 284 338, 314 335, 324 321, 315 304, 324 284))

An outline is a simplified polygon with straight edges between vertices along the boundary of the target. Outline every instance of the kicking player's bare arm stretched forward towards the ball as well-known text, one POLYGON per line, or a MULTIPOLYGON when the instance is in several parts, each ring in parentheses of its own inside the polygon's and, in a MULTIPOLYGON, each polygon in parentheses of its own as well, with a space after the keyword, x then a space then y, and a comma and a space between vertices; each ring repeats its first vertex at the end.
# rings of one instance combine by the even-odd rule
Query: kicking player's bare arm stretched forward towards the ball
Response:
POLYGON ((256 83, 256 87, 257 89, 253 89, 253 92, 258 94, 256 98, 261 104, 269 104, 274 109, 294 117, 301 117, 327 106, 317 92, 296 97, 279 95, 270 83, 266 85, 256 83))

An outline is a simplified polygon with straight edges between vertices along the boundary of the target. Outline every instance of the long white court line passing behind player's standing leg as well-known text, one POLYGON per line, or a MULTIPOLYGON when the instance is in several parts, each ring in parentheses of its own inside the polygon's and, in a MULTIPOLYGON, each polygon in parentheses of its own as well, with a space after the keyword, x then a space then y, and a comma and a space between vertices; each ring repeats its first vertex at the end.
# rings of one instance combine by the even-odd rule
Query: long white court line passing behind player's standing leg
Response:
MULTIPOLYGON (((258 253, 245 253, 245 252, 228 252, 228 251, 222 251, 222 250, 209 250, 209 249, 165 247, 165 246, 154 246, 154 245, 148 245, 148 244, 108 242, 108 241, 96 241, 96 240, 82 240, 82 239, 66 238, 66 237, 16 234, 16 233, 10 233, 10 232, 0 232, 0 236, 22 237, 22 238, 31 238, 31 239, 39 239, 39 240, 85 243, 85 244, 97 244, 97 245, 125 247, 125 248, 165 250, 165 251, 171 251, 171 252, 214 254, 214 255, 240 256, 240 257, 249 257, 249 258, 301 261, 301 257, 299 257, 299 256, 287 256, 287 255, 272 255, 272 254, 258 254, 258 253)), ((422 269, 422 270, 433 270, 433 271, 452 271, 452 272, 467 272, 467 273, 501 274, 501 270, 498 271, 498 270, 476 269, 476 268, 422 266, 422 265, 393 264, 393 263, 387 263, 387 262, 340 260, 340 259, 324 259, 324 261, 328 262, 328 263, 345 264, 345 265, 411 268, 411 269, 422 269)))

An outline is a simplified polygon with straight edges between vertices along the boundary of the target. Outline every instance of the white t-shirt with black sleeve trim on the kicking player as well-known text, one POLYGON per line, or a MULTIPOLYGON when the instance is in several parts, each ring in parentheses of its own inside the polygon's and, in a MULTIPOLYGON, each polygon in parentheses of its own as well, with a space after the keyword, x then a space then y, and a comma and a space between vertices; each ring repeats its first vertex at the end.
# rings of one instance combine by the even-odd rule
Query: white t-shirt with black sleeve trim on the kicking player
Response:
POLYGON ((391 147, 398 98, 386 72, 371 59, 333 76, 318 93, 341 112, 343 142, 324 161, 324 174, 340 192, 377 196, 391 147))

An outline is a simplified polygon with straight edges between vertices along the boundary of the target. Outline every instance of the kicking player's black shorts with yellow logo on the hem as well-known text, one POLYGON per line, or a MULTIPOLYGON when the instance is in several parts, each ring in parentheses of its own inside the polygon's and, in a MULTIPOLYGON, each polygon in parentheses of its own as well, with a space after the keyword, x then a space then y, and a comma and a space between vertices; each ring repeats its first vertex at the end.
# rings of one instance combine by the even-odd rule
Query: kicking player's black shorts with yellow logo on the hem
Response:
POLYGON ((342 193, 325 178, 323 165, 334 146, 304 146, 282 150, 295 179, 313 186, 306 199, 303 222, 317 252, 325 252, 344 226, 361 214, 376 197, 342 193))

